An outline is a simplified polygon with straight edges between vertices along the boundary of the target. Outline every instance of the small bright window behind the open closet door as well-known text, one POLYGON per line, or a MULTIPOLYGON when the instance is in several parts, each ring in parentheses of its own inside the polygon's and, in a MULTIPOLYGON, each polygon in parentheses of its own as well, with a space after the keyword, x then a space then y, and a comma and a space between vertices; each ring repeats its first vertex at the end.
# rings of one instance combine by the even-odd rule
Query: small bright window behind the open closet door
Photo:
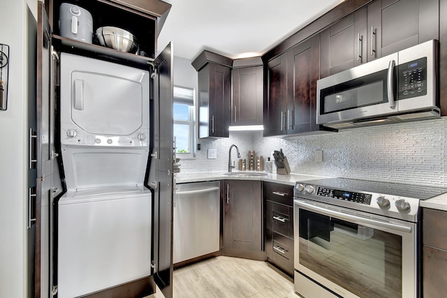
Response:
POLYGON ((177 156, 194 157, 194 89, 174 86, 174 137, 177 156))

